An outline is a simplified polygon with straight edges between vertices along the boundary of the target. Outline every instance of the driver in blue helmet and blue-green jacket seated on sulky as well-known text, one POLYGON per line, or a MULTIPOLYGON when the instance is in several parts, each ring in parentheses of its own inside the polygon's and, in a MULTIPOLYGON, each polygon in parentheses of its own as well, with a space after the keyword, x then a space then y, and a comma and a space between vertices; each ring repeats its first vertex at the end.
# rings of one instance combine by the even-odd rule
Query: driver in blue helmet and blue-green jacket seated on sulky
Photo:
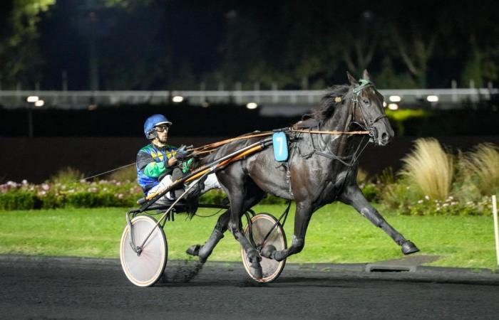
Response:
MULTIPOLYGON (((137 154, 137 181, 145 196, 168 188, 173 183, 172 174, 175 167, 181 166, 185 174, 192 166, 192 159, 185 161, 190 156, 186 146, 176 148, 167 143, 168 129, 171 125, 172 122, 163 114, 153 114, 145 120, 144 134, 150 144, 140 149, 137 154)), ((196 186, 191 189, 190 194, 195 192, 195 188, 196 186)), ((205 193, 212 188, 220 188, 215 174, 207 176, 200 192, 205 193)), ((173 199, 174 193, 168 192, 156 203, 173 199)))

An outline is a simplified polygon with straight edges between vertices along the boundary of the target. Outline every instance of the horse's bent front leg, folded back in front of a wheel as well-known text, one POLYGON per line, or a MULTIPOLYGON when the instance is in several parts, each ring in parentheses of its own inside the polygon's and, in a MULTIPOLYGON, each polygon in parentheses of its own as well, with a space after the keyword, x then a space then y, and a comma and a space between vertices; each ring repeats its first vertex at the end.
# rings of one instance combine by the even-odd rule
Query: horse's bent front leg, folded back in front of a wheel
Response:
POLYGON ((277 251, 273 245, 267 245, 262 250, 264 257, 282 261, 303 250, 305 246, 305 234, 312 217, 312 206, 307 202, 297 202, 297 210, 294 215, 294 234, 291 246, 287 249, 277 251))

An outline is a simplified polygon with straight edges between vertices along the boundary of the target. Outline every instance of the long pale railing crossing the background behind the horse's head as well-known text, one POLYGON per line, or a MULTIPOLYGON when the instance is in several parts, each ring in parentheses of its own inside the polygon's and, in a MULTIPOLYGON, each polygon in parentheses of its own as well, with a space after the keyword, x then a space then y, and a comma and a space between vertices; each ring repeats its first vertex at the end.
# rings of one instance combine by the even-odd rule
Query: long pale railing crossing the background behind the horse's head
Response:
MULTIPOLYGON (((463 102, 490 100, 499 95, 498 88, 465 89, 401 89, 379 90, 387 103, 390 97, 398 96, 400 107, 431 105, 436 108, 458 108, 463 102), (428 102, 428 96, 436 96, 437 102, 428 102)), ((83 109, 91 105, 159 105, 170 102, 178 96, 193 105, 227 103, 245 105, 256 102, 263 106, 312 107, 317 105, 326 90, 254 90, 254 91, 0 91, 0 105, 6 108, 27 107, 26 97, 36 95, 43 100, 45 107, 61 109, 83 109)), ((178 98, 180 100, 180 98, 178 98)), ((434 98, 433 98, 434 99, 434 98)), ((398 100, 394 98, 393 100, 398 100)))

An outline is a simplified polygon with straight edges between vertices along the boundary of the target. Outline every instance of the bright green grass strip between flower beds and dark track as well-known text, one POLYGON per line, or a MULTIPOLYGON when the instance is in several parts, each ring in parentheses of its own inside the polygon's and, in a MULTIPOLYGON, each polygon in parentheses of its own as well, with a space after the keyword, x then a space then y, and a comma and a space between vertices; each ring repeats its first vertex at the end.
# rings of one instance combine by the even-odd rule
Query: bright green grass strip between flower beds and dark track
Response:
MULTIPOLYGON (((254 210, 279 216, 283 208, 257 206, 254 210)), ((208 215, 215 210, 198 213, 208 215)), ((421 254, 442 256, 431 265, 496 267, 492 217, 384 215, 418 245, 421 254)), ((204 243, 216 220, 217 216, 186 221, 185 215, 177 215, 175 222, 167 222, 169 259, 185 259, 185 249, 204 243)), ((123 208, 1 211, 0 254, 118 257, 124 226, 123 208)), ((285 230, 290 241, 292 214, 285 230)), ((288 262, 355 263, 401 257, 398 245, 382 230, 352 208, 334 204, 314 214, 304 250, 288 262)), ((226 233, 210 260, 240 261, 239 244, 230 233, 226 233)))

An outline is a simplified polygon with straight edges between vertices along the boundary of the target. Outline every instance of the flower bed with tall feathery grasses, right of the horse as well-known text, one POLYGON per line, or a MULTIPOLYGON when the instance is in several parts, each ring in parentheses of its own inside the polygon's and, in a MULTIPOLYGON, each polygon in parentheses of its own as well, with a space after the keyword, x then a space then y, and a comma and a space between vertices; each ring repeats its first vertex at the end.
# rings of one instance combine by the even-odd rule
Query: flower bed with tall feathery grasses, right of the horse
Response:
MULTIPOLYGON (((499 192, 499 148, 480 144, 450 154, 436 139, 418 139, 398 176, 379 183, 380 202, 404 215, 490 215, 499 192)), ((382 179, 383 180, 383 179, 382 179)))

